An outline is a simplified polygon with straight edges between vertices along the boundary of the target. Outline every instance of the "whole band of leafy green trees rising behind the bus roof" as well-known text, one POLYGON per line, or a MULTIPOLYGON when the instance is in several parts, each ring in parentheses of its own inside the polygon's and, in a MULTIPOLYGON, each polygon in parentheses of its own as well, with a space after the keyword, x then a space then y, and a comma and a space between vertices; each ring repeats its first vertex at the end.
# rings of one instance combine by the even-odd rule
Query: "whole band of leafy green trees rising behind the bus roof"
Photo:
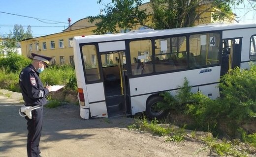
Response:
MULTIPOLYGON (((105 15, 89 17, 89 22, 95 22, 97 34, 119 32, 117 27, 132 29, 134 25, 167 29, 193 26, 195 21, 204 22, 205 13, 215 21, 230 18, 233 13, 231 6, 243 3, 244 0, 149 0, 153 9, 148 13, 146 9, 139 9, 143 0, 112 0, 105 5, 105 15), (204 9, 199 10, 203 5, 204 9)), ((255 1, 255 0, 253 0, 255 1)), ((98 0, 101 3, 102 0, 98 0)), ((255 8, 255 5, 252 5, 255 8)), ((208 18, 209 18, 208 17, 208 18)))

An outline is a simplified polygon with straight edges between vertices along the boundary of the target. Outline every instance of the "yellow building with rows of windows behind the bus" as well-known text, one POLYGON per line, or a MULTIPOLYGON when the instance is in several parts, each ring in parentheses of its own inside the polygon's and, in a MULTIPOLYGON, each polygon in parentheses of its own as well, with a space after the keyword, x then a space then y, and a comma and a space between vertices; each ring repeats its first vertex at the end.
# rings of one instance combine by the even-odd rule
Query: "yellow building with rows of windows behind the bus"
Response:
MULTIPOLYGON (((208 5, 208 4, 207 4, 208 5)), ((140 6, 142 9, 147 9, 147 11, 152 11, 150 3, 145 3, 140 6)), ((203 10, 205 5, 200 6, 203 10)), ((206 12, 202 14, 205 16, 205 23, 212 23, 211 12, 206 12)), ((94 29, 96 29, 95 21, 93 24, 88 22, 88 18, 81 19, 75 22, 73 25, 69 26, 63 32, 49 34, 46 36, 40 36, 31 39, 25 39, 21 41, 22 55, 32 58, 31 53, 36 53, 40 55, 46 55, 52 57, 51 64, 73 64, 73 38, 74 36, 81 35, 93 35, 94 29)), ((202 21, 196 22, 195 25, 202 24, 202 21)), ((133 29, 143 29, 144 26, 134 26, 133 29)), ((120 32, 123 30, 120 29, 120 32)))

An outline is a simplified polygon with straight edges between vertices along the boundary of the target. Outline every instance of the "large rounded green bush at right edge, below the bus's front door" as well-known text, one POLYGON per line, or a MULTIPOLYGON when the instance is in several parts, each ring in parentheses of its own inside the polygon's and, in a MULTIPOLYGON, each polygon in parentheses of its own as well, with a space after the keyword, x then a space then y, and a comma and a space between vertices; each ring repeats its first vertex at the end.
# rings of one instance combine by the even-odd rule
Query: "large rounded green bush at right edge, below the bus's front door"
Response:
POLYGON ((222 110, 237 124, 256 116, 256 65, 236 68, 221 78, 222 110))

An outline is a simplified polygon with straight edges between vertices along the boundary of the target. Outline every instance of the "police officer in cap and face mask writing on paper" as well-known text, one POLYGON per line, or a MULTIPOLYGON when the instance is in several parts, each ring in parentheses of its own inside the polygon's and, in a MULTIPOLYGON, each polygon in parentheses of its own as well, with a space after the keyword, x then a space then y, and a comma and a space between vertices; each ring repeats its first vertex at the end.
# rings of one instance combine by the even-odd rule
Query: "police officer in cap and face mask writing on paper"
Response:
MULTIPOLYGON (((48 67, 51 57, 32 53, 33 61, 28 67, 24 68, 19 77, 19 85, 26 106, 43 106, 46 104, 46 96, 51 92, 52 86, 44 87, 39 74, 48 67)), ((32 119, 27 119, 28 140, 27 153, 28 157, 41 157, 39 142, 41 137, 43 122, 43 107, 32 110, 32 119)))

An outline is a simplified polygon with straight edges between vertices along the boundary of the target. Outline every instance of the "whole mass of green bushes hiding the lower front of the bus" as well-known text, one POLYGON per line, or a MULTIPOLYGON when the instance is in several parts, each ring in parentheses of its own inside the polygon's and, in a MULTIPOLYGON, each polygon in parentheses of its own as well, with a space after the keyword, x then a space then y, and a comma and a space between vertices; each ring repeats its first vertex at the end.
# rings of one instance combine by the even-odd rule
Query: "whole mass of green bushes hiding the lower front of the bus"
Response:
POLYGON ((180 87, 176 96, 169 92, 161 94, 164 102, 159 103, 159 107, 188 114, 197 129, 221 129, 234 137, 242 125, 256 117, 256 65, 252 65, 250 70, 230 70, 221 78, 219 87, 221 97, 211 100, 200 92, 191 93, 185 78, 184 87, 180 87))

